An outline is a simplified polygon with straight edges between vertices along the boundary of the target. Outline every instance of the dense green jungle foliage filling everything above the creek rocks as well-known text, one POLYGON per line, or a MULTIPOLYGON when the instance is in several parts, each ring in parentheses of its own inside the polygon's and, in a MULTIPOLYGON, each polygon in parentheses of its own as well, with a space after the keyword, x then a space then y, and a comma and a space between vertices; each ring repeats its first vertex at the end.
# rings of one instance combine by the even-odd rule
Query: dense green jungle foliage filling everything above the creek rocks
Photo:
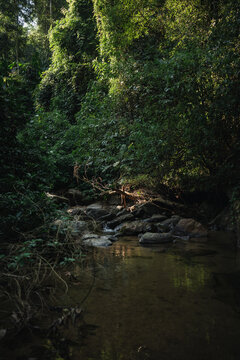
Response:
POLYGON ((76 164, 239 200, 239 27, 235 0, 1 0, 1 236, 45 221, 76 164))

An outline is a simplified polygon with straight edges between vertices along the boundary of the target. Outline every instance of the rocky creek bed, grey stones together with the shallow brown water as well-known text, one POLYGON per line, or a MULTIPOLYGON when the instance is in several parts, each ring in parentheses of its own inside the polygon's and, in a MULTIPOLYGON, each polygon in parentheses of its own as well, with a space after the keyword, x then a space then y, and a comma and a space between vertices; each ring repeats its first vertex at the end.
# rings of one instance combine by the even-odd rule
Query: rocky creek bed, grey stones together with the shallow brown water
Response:
POLYGON ((11 339, 14 347, 0 345, 1 360, 239 359, 233 234, 152 203, 68 214, 53 230, 88 249, 84 269, 63 270, 69 291, 59 288, 51 311, 11 339))

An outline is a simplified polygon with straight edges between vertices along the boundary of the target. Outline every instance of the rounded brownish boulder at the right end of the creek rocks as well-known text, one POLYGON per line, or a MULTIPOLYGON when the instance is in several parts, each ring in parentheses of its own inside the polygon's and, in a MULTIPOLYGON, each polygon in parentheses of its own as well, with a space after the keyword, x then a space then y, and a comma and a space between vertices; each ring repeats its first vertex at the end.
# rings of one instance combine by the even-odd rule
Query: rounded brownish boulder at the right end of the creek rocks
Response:
POLYGON ((192 218, 179 220, 174 232, 177 235, 189 235, 190 237, 208 236, 208 230, 201 223, 192 218))

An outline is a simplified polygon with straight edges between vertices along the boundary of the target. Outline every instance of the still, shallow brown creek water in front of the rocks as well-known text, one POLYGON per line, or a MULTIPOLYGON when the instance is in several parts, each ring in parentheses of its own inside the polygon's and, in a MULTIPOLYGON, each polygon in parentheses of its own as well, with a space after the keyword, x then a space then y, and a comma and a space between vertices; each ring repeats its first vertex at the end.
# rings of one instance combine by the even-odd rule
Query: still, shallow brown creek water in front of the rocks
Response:
POLYGON ((15 347, 0 359, 239 359, 240 259, 225 240, 215 235, 208 248, 216 254, 191 258, 141 247, 136 237, 94 249, 56 300, 67 306, 87 297, 82 318, 66 324, 57 343, 21 335, 18 355, 15 347))

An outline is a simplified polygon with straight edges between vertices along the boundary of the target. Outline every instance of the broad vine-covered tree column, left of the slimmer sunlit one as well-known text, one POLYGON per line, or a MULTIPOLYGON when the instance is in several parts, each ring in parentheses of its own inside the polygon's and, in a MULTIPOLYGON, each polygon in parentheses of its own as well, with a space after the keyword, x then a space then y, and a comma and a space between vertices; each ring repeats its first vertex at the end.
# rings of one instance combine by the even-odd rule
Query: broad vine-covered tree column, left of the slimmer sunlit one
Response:
POLYGON ((37 92, 37 107, 58 109, 74 122, 88 84, 94 78, 96 28, 90 0, 69 4, 65 17, 50 32, 52 64, 37 92))

